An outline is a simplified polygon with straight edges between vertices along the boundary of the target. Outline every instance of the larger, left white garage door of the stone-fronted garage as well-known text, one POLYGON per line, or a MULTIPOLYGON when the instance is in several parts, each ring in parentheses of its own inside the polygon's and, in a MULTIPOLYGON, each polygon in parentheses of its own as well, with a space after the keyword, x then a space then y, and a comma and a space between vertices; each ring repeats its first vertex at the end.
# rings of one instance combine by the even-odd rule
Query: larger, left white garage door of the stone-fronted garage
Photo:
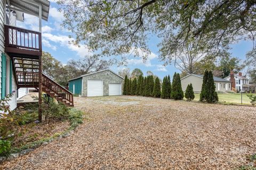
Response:
POLYGON ((102 80, 87 80, 87 96, 103 96, 102 80))

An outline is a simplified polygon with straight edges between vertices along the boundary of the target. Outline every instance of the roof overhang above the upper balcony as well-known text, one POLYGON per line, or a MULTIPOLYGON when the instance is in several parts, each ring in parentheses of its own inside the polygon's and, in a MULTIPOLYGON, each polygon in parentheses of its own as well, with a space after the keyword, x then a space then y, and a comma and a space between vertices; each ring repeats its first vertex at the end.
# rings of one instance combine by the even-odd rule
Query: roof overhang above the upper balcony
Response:
POLYGON ((42 5, 42 19, 47 21, 50 2, 47 0, 9 0, 11 9, 39 17, 39 5, 42 5))

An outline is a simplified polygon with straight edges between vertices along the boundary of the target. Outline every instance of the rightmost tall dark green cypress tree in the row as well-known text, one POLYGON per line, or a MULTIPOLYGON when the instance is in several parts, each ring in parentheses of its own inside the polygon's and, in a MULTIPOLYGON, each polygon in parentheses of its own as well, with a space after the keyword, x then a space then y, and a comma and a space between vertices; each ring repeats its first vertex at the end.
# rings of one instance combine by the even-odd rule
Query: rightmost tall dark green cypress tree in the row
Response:
POLYGON ((213 103, 215 101, 218 101, 218 94, 215 91, 215 84, 213 80, 213 74, 211 71, 208 72, 208 81, 206 82, 205 91, 205 100, 207 103, 213 103))

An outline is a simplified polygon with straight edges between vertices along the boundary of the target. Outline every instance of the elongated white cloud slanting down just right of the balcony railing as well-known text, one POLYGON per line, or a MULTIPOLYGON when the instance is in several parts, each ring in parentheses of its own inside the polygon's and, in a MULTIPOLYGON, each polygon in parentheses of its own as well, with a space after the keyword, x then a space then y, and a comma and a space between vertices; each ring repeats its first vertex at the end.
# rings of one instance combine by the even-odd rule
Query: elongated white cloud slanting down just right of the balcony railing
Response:
POLYGON ((76 52, 77 55, 80 57, 84 57, 85 55, 92 54, 86 46, 81 45, 80 47, 78 47, 73 44, 69 44, 69 41, 73 39, 70 39, 68 36, 63 36, 63 35, 57 36, 57 35, 52 35, 51 33, 44 33, 42 36, 44 40, 49 41, 49 43, 50 41, 52 41, 54 43, 60 44, 62 47, 67 47, 70 50, 76 52))

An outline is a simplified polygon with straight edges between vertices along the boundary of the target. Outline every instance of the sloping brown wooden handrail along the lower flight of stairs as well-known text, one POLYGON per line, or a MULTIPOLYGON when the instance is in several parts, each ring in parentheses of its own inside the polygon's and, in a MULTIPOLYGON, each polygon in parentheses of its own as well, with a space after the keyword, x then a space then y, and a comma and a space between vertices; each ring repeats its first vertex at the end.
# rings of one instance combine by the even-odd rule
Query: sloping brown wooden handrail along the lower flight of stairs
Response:
POLYGON ((49 90, 53 91, 59 97, 69 101, 70 106, 74 106, 73 94, 67 89, 63 88, 60 84, 53 81, 45 74, 42 74, 42 84, 49 90))

